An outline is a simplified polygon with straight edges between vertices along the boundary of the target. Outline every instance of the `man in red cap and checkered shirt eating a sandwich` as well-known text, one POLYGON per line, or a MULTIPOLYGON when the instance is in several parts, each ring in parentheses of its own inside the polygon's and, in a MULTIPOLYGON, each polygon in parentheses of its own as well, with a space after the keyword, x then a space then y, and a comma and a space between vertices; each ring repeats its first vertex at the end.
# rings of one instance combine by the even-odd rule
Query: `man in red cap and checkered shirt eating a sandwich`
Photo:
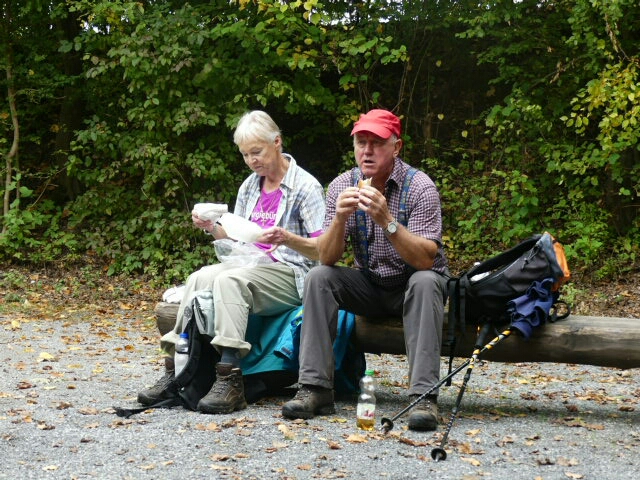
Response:
MULTIPOLYGON (((441 209, 433 181, 417 171, 408 184, 406 215, 400 212, 410 166, 398 155, 400 120, 386 110, 361 115, 351 135, 359 170, 334 179, 327 191, 319 259, 305 279, 300 340, 301 388, 282 408, 287 418, 334 413, 331 343, 339 309, 367 317, 402 316, 409 362, 409 395, 438 382, 447 261, 441 209), (370 179, 370 186, 358 187, 370 179), (399 218, 406 217, 406 226, 399 218), (336 266, 351 242, 356 267, 336 266)), ((409 417, 412 430, 437 427, 437 391, 409 417)))

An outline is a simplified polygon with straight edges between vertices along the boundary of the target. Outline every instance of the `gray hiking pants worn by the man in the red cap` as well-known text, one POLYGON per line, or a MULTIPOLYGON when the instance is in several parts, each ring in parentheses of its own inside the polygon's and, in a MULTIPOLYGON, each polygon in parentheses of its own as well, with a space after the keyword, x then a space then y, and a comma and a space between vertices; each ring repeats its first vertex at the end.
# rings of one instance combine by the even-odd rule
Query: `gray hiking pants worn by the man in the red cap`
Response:
POLYGON ((417 271, 404 287, 389 288, 375 285, 353 268, 312 268, 305 279, 298 381, 333 388, 332 345, 338 310, 346 310, 370 318, 402 317, 409 394, 428 391, 440 378, 446 288, 446 277, 432 270, 417 271))

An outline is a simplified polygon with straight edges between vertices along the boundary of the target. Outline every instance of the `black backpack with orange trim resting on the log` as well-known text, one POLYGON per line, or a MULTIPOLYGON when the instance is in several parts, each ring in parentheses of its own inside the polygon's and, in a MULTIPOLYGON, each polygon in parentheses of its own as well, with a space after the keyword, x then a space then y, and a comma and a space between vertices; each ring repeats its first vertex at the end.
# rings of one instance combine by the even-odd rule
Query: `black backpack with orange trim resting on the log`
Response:
POLYGON ((456 331, 464 335, 466 324, 503 326, 513 318, 513 301, 527 295, 532 287, 549 288, 544 320, 555 321, 569 315, 569 307, 559 302, 559 288, 570 277, 564 249, 548 232, 520 242, 484 262, 476 264, 447 284, 449 303, 449 366, 455 356, 456 331), (545 282, 543 282, 545 281, 545 282), (554 308, 566 307, 562 316, 554 308))

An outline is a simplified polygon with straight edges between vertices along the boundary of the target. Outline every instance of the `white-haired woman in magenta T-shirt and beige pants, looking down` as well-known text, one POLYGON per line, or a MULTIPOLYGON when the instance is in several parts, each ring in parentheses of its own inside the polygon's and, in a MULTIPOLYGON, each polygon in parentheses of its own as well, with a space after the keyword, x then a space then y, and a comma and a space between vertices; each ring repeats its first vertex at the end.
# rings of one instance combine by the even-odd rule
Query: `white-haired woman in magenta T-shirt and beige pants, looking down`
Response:
MULTIPOLYGON (((265 112, 245 114, 233 139, 253 171, 238 190, 234 214, 262 228, 256 245, 272 262, 253 267, 219 263, 189 276, 176 325, 161 340, 166 372, 156 385, 138 394, 144 405, 171 395, 166 385, 174 376, 173 350, 183 329, 184 307, 195 292, 210 290, 215 318, 211 343, 221 359, 215 365, 216 381, 198 410, 231 413, 246 408, 240 359, 251 349, 245 341, 249 314, 278 315, 300 306, 304 276, 318 258, 315 239, 322 233, 325 211, 318 180, 282 152, 280 129, 265 112)), ((227 238, 220 224, 203 220, 195 212, 192 219, 216 240, 227 238)))

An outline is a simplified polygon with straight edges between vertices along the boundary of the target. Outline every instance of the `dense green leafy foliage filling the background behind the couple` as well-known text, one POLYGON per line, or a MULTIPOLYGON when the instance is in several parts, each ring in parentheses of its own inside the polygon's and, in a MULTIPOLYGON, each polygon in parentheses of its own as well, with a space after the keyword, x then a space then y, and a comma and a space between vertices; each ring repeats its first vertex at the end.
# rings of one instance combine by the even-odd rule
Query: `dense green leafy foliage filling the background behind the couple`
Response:
MULTIPOLYGON (((242 113, 268 111, 326 184, 353 165, 358 114, 382 107, 440 188, 450 257, 549 230, 574 269, 637 268, 635 0, 15 4, 0 18, 21 125, 2 260, 89 252, 110 274, 183 281, 215 261, 193 204, 233 207, 249 173, 242 113), (70 148, 65 110, 81 117, 70 148)), ((12 136, 3 107, 3 155, 12 136)))

